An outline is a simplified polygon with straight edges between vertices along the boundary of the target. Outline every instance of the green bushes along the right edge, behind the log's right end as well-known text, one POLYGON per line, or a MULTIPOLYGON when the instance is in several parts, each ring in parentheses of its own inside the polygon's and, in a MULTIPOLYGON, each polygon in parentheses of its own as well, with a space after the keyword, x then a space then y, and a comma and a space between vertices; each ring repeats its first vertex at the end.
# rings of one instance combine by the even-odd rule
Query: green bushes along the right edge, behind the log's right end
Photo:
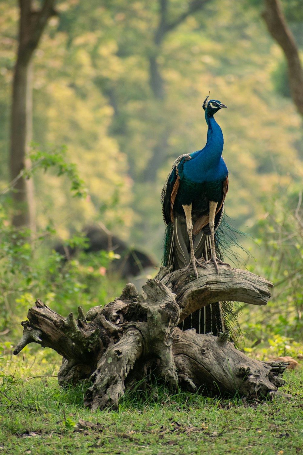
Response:
POLYGON ((282 194, 277 188, 267 210, 254 229, 259 251, 252 269, 273 282, 273 295, 266 307, 245 306, 240 326, 250 340, 247 346, 268 340, 277 355, 293 355, 295 341, 303 337, 302 192, 289 187, 282 194))

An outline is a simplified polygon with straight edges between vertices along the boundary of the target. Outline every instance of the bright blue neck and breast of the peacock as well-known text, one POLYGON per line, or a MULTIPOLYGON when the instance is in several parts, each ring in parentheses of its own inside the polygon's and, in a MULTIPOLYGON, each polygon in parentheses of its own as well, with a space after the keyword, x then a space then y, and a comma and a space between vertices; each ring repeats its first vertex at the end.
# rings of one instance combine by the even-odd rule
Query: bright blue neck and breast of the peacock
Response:
POLYGON ((223 177, 221 174, 227 172, 221 163, 224 144, 222 130, 213 115, 209 116, 205 112, 205 120, 209 127, 205 147, 191 153, 192 159, 184 163, 184 176, 194 182, 213 181, 223 177))

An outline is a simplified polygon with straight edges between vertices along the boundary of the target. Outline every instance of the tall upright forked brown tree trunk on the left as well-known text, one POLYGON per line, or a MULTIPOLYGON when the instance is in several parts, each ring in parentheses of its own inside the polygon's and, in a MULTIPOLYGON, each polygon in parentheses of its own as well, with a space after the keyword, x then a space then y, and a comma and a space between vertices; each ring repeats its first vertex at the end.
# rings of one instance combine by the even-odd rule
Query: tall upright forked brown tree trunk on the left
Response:
POLYGON ((34 186, 32 179, 17 178, 30 167, 26 158, 32 136, 32 56, 37 48, 50 16, 56 14, 55 0, 44 0, 40 10, 34 10, 32 0, 19 0, 19 44, 13 78, 10 124, 10 178, 15 181, 13 191, 15 227, 27 226, 35 230, 34 186))

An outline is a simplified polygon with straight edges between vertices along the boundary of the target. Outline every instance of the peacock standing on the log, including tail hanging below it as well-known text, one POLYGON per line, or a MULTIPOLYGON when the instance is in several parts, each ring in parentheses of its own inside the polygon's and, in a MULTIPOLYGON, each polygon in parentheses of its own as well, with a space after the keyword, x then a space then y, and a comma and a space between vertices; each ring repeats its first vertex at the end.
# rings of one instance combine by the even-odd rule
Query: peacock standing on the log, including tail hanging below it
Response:
MULTIPOLYGON (((163 265, 171 270, 185 267, 184 271, 193 267, 197 278, 197 266, 207 268, 213 263, 219 273, 220 264, 229 265, 221 260, 218 248, 217 230, 224 217, 228 169, 222 157, 223 133, 214 119, 214 114, 227 106, 208 98, 203 103, 208 125, 206 145, 175 160, 161 193, 166 224, 163 265)), ((221 306, 218 302, 196 311, 181 328, 194 328, 198 333, 224 331, 226 308, 222 311, 221 306)))

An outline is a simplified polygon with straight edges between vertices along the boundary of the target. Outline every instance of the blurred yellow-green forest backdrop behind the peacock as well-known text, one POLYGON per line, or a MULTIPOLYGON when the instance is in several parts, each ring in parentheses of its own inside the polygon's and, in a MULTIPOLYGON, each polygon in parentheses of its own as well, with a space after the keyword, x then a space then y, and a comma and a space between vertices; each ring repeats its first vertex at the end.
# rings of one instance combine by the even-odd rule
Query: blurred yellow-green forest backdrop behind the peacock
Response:
MULTIPOLYGON (((24 3, 20 1, 20 5, 24 3)), ((39 11, 44 3, 33 1, 32 5, 39 11)), ((226 212, 235 227, 253 236, 241 239, 256 258, 246 266, 257 267, 258 273, 281 283, 266 311, 286 316, 287 323, 280 324, 283 330, 277 330, 288 337, 294 326, 300 332, 302 308, 299 286, 287 288, 281 277, 292 276, 297 284, 302 278, 303 253, 298 248, 302 210, 298 202, 303 131, 291 98, 283 51, 262 18, 266 3, 57 0, 57 14, 45 22, 32 56, 30 149, 51 154, 56 147, 66 146, 67 159, 78 166, 88 188, 82 200, 73 198, 66 177, 58 178, 55 169, 35 172, 38 237, 39 232, 55 231, 61 238, 69 238, 85 224, 101 220, 160 263, 162 185, 176 157, 204 147, 205 96, 210 92, 224 102, 229 110, 218 121, 230 178, 226 212), (282 213, 286 224, 277 221, 282 213), (290 253, 279 262, 283 251, 295 251, 295 259, 290 253)), ((283 0, 281 5, 300 55, 302 6, 299 0, 283 0)), ((10 109, 19 20, 17 2, 2 1, 0 190, 5 194, 0 202, 4 227, 14 220, 19 194, 5 192, 10 182, 10 109)), ((49 257, 50 236, 40 237, 38 250, 49 257)), ((11 303, 16 296, 9 292, 11 303)), ((33 286, 31 292, 43 299, 42 289, 37 295, 33 286)), ((258 310, 260 320, 265 319, 263 310, 258 310)), ((244 328, 248 327, 245 311, 244 328)), ((277 326, 274 317, 273 327, 277 326)), ((262 327, 256 334, 259 338, 264 335, 262 327)))

